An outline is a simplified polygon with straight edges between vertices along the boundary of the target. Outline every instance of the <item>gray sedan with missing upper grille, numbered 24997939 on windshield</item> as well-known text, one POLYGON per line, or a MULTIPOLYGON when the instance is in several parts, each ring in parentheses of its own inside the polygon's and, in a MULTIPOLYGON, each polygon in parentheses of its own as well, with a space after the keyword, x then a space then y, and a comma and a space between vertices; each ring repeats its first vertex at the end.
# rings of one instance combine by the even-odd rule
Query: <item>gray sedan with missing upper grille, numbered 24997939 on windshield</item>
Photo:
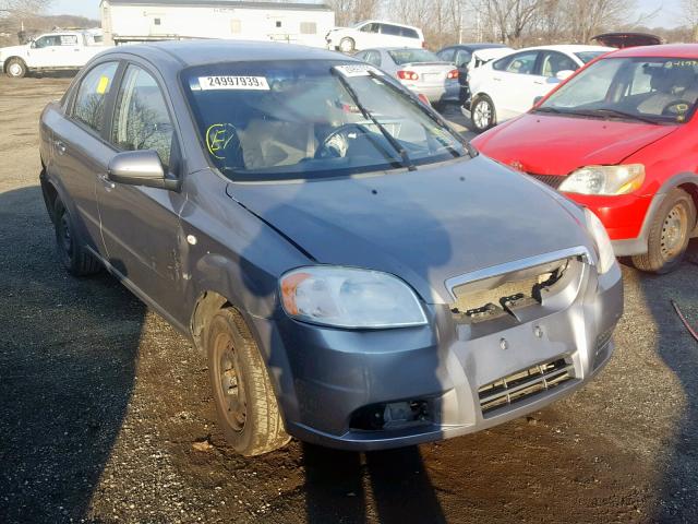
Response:
POLYGON ((60 262, 106 267, 207 355, 242 454, 478 431, 613 352, 622 281, 599 219, 358 60, 118 47, 40 136, 60 262))

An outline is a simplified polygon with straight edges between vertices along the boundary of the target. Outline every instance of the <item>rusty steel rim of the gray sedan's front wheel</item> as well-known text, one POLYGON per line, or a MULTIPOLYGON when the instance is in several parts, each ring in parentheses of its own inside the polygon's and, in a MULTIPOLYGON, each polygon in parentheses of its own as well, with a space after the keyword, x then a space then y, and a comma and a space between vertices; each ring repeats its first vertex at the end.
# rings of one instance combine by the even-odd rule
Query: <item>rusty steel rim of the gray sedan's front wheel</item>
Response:
POLYGON ((219 355, 218 388, 226 420, 236 431, 242 431, 248 418, 248 404, 244 384, 239 373, 238 354, 228 333, 219 334, 215 344, 216 353, 219 355))

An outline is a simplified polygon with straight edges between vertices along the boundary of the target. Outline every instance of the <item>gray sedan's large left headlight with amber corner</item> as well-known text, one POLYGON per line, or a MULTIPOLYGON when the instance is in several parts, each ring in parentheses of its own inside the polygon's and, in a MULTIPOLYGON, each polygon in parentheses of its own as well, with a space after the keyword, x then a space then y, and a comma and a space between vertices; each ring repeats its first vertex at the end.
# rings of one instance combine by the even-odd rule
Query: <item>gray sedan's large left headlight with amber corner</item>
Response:
POLYGON ((280 279, 281 303, 297 320, 336 327, 422 325, 426 317, 405 282, 377 271, 300 267, 280 279))

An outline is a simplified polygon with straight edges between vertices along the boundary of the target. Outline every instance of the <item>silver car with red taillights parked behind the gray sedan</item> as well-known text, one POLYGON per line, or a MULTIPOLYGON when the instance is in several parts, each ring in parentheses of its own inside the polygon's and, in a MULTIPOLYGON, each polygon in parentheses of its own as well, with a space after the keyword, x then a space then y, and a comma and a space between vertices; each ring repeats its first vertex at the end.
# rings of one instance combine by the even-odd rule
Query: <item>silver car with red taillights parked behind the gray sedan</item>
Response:
POLYGON ((423 95, 431 104, 438 105, 459 99, 458 69, 426 49, 365 49, 357 52, 354 58, 382 69, 408 90, 423 95))

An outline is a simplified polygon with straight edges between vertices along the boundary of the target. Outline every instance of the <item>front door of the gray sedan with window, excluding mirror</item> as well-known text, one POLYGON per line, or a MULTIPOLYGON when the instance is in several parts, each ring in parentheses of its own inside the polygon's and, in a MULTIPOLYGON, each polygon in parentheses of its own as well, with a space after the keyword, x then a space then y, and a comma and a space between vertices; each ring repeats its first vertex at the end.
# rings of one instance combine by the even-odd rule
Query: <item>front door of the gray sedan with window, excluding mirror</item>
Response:
MULTIPOLYGON (((179 147, 165 94, 153 74, 129 64, 116 97, 110 142, 118 151, 154 150, 179 176, 179 147)), ((176 313, 180 302, 181 193, 115 183, 97 184, 101 234, 109 263, 145 298, 176 313)))

